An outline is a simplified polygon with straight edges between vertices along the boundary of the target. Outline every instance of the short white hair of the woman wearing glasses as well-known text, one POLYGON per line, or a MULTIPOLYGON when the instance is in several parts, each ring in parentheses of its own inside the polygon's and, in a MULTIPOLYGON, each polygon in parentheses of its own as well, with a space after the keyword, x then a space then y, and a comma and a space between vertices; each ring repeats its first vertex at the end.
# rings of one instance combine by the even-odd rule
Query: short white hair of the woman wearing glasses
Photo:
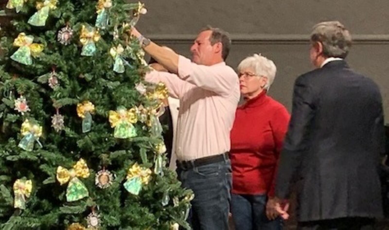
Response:
POLYGON ((267 77, 268 81, 265 85, 265 90, 269 91, 277 72, 277 67, 275 67, 275 64, 272 60, 262 56, 261 54, 254 54, 252 56, 248 56, 239 63, 239 72, 245 68, 252 68, 256 75, 267 77))

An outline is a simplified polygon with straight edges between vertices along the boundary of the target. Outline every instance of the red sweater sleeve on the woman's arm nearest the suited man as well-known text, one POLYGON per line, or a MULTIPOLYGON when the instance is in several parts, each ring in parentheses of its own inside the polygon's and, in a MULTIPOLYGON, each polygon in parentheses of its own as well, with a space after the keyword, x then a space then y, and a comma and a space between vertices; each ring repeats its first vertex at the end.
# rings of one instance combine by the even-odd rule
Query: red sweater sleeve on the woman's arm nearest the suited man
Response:
POLYGON ((282 148, 282 143, 284 142, 285 134, 288 129, 290 114, 285 107, 277 109, 270 120, 270 126, 272 127, 273 138, 275 143, 275 157, 277 163, 275 165, 275 171, 273 173, 272 184, 270 184, 270 189, 268 191, 268 197, 274 197, 275 190, 275 176, 277 175, 277 169, 279 165, 280 152, 282 148))

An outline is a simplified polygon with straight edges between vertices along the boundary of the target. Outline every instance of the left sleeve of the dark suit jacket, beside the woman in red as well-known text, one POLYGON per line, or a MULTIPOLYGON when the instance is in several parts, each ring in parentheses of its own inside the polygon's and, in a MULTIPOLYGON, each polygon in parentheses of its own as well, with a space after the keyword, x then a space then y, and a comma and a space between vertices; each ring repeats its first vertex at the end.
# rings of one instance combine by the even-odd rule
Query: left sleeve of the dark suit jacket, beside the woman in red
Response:
POLYGON ((301 162, 301 154, 307 149, 312 118, 315 112, 314 92, 303 76, 294 83, 292 115, 280 154, 275 196, 289 196, 291 180, 301 162))

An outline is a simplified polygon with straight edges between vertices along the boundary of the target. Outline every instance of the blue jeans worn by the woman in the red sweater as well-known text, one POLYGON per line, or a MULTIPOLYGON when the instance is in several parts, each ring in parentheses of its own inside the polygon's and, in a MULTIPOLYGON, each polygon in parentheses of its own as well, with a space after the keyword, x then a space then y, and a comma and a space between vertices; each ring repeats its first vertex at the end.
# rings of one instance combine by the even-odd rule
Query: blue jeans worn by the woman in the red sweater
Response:
POLYGON ((266 217, 266 195, 232 194, 231 213, 236 230, 282 230, 282 220, 266 217))

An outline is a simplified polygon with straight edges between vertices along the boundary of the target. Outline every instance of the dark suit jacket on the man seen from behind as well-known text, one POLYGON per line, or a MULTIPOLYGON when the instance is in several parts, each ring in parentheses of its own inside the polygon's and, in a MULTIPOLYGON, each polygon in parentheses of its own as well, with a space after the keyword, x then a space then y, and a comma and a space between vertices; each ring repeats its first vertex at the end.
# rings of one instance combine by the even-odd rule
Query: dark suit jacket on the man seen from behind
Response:
POLYGON ((382 215, 384 116, 378 86, 343 60, 296 79, 276 193, 296 176, 298 221, 382 215))

